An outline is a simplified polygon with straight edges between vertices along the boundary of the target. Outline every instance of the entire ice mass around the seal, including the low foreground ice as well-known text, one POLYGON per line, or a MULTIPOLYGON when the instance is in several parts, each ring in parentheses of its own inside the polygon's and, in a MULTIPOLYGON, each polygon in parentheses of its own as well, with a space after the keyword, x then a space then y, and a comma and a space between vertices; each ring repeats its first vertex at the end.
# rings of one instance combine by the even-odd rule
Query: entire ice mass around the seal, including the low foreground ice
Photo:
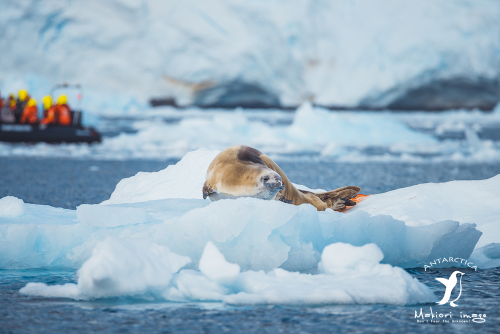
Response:
POLYGON ((0 205, 0 268, 78 269, 77 283, 28 283, 21 292, 31 295, 316 305, 432 302, 401 267, 447 256, 500 263, 500 176, 397 189, 345 213, 250 197, 210 202, 201 185, 218 152, 198 149, 123 179, 109 200, 76 210, 0 199, 25 209, 6 216, 10 206, 0 205), (487 209, 475 217, 480 204, 487 209))

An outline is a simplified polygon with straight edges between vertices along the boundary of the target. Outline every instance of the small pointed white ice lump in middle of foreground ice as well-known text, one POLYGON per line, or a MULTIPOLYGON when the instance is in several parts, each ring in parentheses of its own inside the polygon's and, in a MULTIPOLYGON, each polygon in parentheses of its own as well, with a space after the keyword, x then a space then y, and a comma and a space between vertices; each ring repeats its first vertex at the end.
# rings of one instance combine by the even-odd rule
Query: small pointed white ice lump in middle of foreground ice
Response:
POLYGON ((206 277, 219 283, 231 283, 240 270, 238 264, 227 262, 211 241, 206 243, 198 267, 206 277))

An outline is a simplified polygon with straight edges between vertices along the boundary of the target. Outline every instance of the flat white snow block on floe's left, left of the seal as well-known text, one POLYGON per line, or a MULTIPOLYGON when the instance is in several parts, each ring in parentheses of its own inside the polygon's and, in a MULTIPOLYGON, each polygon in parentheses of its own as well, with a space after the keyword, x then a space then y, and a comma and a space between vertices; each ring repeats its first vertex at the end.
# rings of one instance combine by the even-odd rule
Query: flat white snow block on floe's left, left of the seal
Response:
POLYGON ((118 207, 99 204, 81 204, 76 217, 89 226, 115 227, 152 220, 147 211, 139 207, 118 207))

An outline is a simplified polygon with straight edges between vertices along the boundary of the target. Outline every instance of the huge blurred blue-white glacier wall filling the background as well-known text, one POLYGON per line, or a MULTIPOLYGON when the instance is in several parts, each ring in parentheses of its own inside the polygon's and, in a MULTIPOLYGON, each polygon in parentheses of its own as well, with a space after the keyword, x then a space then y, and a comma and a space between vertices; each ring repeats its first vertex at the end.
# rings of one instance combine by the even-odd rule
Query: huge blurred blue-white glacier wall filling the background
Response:
POLYGON ((498 77, 499 16, 492 0, 3 1, 0 85, 40 99, 79 82, 94 113, 187 104, 233 79, 284 105, 356 105, 433 78, 498 77))

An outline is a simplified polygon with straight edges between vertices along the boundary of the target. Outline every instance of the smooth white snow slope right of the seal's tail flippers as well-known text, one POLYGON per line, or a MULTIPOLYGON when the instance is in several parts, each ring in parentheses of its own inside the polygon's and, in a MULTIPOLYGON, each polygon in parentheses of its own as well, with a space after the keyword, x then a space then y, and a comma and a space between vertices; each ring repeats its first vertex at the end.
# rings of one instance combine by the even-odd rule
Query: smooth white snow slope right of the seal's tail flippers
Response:
POLYGON ((425 226, 451 219, 474 223, 483 235, 482 247, 500 235, 500 174, 485 180, 416 184, 370 195, 351 210, 372 216, 389 214, 408 226, 425 226))

